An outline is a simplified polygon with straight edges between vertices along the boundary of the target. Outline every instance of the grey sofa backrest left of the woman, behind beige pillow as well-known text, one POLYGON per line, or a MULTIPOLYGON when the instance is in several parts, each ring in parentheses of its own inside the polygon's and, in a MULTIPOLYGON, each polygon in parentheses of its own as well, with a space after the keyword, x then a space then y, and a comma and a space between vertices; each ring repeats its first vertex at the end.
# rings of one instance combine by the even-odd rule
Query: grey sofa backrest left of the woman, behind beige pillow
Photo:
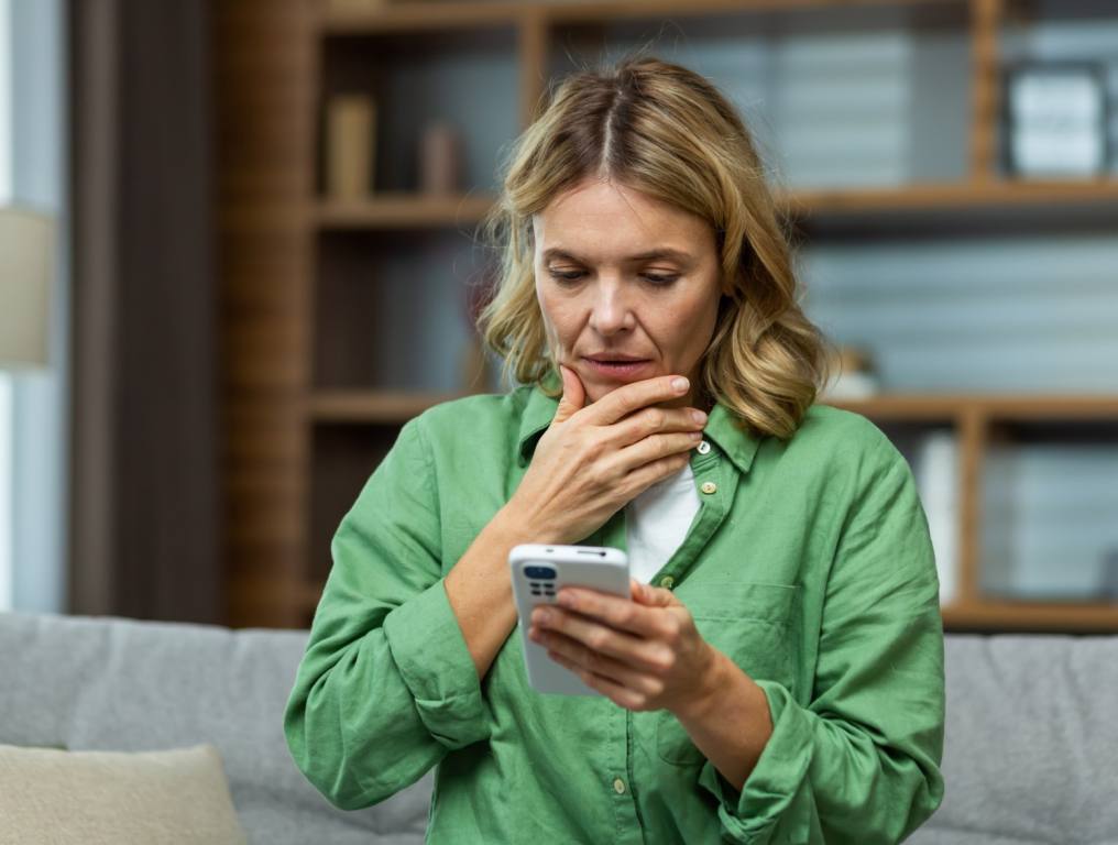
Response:
POLYGON ((296 768, 283 710, 306 630, 0 613, 0 743, 141 751, 210 742, 250 843, 421 845, 433 772, 361 810, 296 768))

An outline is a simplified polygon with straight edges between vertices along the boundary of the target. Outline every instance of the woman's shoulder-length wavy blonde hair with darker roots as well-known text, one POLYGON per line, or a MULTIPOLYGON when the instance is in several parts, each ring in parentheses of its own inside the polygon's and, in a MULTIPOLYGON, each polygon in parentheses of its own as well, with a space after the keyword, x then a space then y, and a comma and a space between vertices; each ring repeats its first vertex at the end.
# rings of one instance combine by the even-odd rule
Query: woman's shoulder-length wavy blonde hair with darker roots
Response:
POLYGON ((543 383, 558 379, 558 364, 536 296, 532 216, 584 179, 608 178, 713 227, 731 293, 719 303, 697 398, 727 406, 757 435, 790 437, 827 384, 834 350, 799 306, 789 237, 737 111, 699 74, 641 55, 581 69, 544 97, 480 227, 499 266, 477 329, 504 359, 503 378, 561 395, 543 383))

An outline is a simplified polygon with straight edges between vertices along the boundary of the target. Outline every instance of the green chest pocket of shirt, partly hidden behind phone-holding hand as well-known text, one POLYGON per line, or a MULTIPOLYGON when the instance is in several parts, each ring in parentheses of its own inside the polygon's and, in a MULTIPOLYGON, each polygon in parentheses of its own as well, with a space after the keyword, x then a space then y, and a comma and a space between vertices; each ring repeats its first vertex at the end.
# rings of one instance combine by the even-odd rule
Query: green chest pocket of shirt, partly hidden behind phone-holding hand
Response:
MULTIPOLYGON (((799 587, 749 581, 704 581, 678 590, 699 634, 751 678, 795 684, 790 620, 799 587)), ((675 766, 701 766, 705 756, 679 720, 662 710, 656 720, 656 752, 675 766)))

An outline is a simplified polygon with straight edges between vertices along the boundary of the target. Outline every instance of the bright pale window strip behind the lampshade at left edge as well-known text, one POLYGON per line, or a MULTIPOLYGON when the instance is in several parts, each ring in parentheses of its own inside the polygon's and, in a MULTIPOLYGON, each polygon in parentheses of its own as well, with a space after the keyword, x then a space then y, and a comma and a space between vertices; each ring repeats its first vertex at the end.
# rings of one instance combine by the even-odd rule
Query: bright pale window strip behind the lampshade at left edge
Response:
POLYGON ((66 595, 66 3, 0 0, 0 202, 55 215, 51 367, 0 372, 0 609, 61 613, 66 595))

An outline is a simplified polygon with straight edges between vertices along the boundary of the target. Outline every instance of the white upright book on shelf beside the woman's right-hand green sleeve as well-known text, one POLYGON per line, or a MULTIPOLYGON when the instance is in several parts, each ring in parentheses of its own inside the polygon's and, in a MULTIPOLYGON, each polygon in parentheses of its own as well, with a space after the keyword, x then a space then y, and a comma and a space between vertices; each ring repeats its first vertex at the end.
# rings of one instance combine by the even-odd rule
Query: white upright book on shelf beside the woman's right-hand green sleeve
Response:
POLYGON ((954 431, 929 431, 920 439, 913 476, 936 553, 941 607, 950 605, 958 597, 958 437, 954 431))

